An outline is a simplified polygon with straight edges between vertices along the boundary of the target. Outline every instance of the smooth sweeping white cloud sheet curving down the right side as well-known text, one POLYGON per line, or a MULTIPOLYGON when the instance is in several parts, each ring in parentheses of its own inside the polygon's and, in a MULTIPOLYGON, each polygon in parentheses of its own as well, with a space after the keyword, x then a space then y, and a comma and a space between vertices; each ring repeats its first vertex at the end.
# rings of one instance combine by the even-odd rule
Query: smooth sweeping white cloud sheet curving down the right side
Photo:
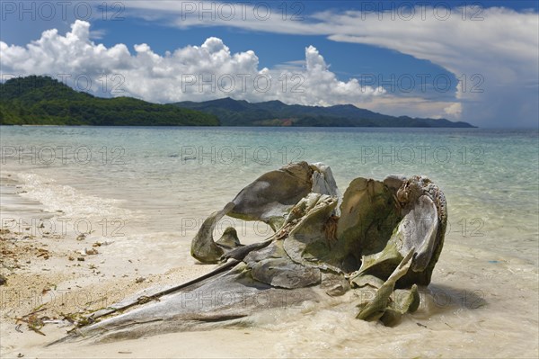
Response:
POLYGON ((461 81, 455 98, 449 102, 409 98, 408 106, 402 108, 405 94, 391 93, 356 104, 391 114, 460 116, 480 126, 537 127, 539 16, 536 11, 518 12, 490 6, 488 2, 460 7, 450 7, 446 2, 418 2, 415 6, 406 3, 402 7, 367 2, 356 4, 363 11, 321 12, 318 7, 308 11, 311 3, 302 2, 300 19, 294 21, 290 16, 283 17, 279 9, 261 20, 260 11, 257 13, 256 6, 250 3, 236 6, 236 15, 228 19, 218 16, 224 4, 227 3, 139 1, 128 7, 135 16, 152 13, 160 21, 181 29, 227 26, 248 31, 320 35, 339 42, 393 49, 429 60, 453 73, 461 81), (195 4, 197 11, 187 4, 195 4), (215 19, 201 16, 201 9, 208 8, 216 9, 215 19), (408 13, 400 13, 402 9, 408 9, 408 13))

